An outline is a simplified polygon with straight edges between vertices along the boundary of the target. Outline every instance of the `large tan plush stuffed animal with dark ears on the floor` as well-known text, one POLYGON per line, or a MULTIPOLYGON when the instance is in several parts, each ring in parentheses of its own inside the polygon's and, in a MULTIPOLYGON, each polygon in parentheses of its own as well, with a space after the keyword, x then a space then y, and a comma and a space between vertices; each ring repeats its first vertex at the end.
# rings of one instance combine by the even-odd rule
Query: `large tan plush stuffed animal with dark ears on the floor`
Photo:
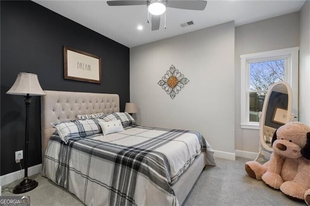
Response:
POLYGON ((279 127, 273 134, 272 148, 269 161, 263 165, 246 162, 246 172, 310 206, 310 127, 302 122, 279 127))

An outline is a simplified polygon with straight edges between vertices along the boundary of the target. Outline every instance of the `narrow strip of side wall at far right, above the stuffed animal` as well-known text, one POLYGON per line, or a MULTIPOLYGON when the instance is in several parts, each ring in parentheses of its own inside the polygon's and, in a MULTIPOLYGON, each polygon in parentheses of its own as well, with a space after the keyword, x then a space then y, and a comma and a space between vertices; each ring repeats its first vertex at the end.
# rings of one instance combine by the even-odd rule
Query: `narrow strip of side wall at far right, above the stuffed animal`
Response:
POLYGON ((310 1, 300 11, 299 121, 310 126, 310 1))

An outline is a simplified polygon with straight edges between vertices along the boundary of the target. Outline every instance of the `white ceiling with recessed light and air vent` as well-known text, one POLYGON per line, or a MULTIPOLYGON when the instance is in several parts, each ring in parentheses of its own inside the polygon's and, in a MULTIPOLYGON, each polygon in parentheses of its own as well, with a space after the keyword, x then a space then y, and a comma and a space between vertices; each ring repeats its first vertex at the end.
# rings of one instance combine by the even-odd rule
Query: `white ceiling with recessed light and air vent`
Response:
MULTIPOLYGON (((305 0, 210 0, 204 11, 167 8, 159 30, 151 31, 147 8, 108 6, 106 0, 34 0, 34 2, 127 47, 154 42, 234 21, 236 26, 299 11, 305 0), (194 25, 180 24, 193 21, 194 25), (142 30, 137 29, 141 25, 142 30)), ((285 23, 285 22, 283 22, 285 23)))

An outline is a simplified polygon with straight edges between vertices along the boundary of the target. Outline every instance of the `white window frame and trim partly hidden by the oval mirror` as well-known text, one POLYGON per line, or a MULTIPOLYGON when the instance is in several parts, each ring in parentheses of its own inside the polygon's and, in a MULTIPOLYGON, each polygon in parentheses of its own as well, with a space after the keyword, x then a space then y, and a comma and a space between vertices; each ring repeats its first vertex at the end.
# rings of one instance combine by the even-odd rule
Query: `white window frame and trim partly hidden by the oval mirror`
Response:
MULTIPOLYGON (((298 116, 298 51, 299 47, 241 55, 241 128, 259 130, 259 122, 249 121, 249 64, 253 62, 285 59, 284 81, 293 93, 292 114, 298 116)), ((298 121, 298 119, 295 119, 298 121)))

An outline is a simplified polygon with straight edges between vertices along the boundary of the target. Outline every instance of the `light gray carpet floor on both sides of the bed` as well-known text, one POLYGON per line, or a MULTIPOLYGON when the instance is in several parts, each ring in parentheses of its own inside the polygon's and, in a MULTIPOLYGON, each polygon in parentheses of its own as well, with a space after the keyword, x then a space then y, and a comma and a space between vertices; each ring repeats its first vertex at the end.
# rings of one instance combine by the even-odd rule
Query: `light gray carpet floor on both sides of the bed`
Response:
MULTIPOLYGON (((244 164, 250 161, 216 159, 217 166, 206 166, 188 194, 184 206, 306 206, 287 198, 281 191, 266 186, 263 181, 248 177, 244 164)), ((31 176, 39 186, 22 195, 31 196, 31 206, 82 206, 70 192, 39 174, 31 176)), ((17 183, 16 183, 17 184, 17 183)), ((6 189, 13 190, 14 184, 6 189)), ((5 188, 2 187, 2 188, 5 188)), ((2 190, 2 195, 20 195, 2 190)))

